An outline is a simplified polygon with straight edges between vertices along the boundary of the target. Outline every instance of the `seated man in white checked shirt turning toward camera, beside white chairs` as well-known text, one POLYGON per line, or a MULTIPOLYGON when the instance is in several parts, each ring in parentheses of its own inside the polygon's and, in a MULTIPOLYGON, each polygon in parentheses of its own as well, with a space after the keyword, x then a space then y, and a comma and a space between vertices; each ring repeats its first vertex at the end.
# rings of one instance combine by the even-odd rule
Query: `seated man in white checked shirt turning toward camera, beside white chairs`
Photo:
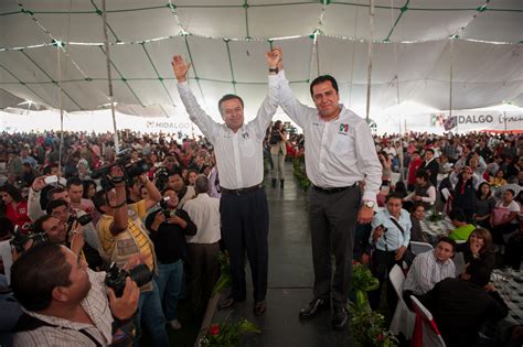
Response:
POLYGON ((456 276, 451 259, 455 252, 456 241, 442 237, 434 250, 416 256, 403 286, 406 303, 410 302, 410 295, 423 295, 441 280, 456 276))

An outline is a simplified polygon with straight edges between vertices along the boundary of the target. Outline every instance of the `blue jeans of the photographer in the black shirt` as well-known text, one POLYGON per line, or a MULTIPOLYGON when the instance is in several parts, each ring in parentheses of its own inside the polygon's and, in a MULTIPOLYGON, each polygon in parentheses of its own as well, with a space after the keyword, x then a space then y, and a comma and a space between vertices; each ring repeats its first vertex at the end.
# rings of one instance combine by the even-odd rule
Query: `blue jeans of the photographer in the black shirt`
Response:
POLYGON ((177 318, 178 300, 182 292, 183 261, 180 259, 170 264, 158 264, 158 291, 168 322, 177 318))

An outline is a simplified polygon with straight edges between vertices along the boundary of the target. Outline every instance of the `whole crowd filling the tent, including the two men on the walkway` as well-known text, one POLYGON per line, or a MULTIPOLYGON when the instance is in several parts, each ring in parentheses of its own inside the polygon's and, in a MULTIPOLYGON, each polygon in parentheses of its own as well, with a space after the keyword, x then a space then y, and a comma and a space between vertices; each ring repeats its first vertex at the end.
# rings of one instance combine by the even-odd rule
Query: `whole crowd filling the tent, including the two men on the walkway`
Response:
MULTIPOLYGON (((333 328, 346 327, 353 259, 369 264, 380 281, 370 293, 373 310, 393 267, 408 270, 406 302, 415 295, 433 311, 449 346, 477 341, 487 317, 506 315, 488 283, 494 267, 521 264, 523 138, 371 135, 361 118, 338 104, 331 76, 311 84, 316 108, 301 105, 281 56, 280 48, 267 53, 269 91, 254 121, 244 124, 237 96, 220 100, 225 126, 200 108, 186 84, 190 63, 174 56, 180 97, 204 133, 199 139, 121 131, 117 152, 110 133, 2 133, 0 240, 19 243, 9 262, 2 253, 0 285, 9 283, 12 294, 6 290, 0 303, 9 305, 2 329, 17 332, 15 344, 137 345, 147 327, 154 346, 168 346, 166 326, 183 328, 177 318, 181 297, 190 297, 196 313, 205 310, 220 275, 221 248, 228 251, 232 292, 220 308, 245 301, 246 253, 253 311, 263 315, 269 213, 264 155, 270 188, 284 188, 288 180, 286 156, 305 155, 312 182, 316 279, 301 319, 313 318, 332 300, 333 328), (270 122, 278 105, 303 134, 289 137, 281 121, 270 122), (328 127, 330 121, 337 124, 328 127), (453 228, 427 239, 426 213, 447 216, 453 228), (415 254, 412 241, 431 242, 434 250, 415 254), (461 272, 452 262, 456 252, 467 263, 461 272), (118 288, 105 280, 113 264, 145 270, 118 288), (448 316, 450 303, 460 319, 448 316)), ((394 310, 398 297, 386 286, 394 310)), ((9 345, 13 336, 1 338, 9 345)))

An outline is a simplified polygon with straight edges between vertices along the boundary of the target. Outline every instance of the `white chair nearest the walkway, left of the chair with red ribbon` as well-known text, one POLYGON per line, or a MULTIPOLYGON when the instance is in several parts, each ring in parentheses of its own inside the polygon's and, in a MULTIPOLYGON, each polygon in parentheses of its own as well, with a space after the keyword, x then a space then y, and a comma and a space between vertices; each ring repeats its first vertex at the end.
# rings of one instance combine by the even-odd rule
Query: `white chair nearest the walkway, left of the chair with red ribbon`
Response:
POLYGON ((414 332, 414 324, 416 322, 416 314, 408 310, 407 304, 403 300, 403 282, 405 282, 405 274, 402 268, 395 264, 388 273, 388 279, 398 296, 396 311, 394 312, 391 322, 391 332, 395 335, 402 333, 405 338, 409 339, 414 332))

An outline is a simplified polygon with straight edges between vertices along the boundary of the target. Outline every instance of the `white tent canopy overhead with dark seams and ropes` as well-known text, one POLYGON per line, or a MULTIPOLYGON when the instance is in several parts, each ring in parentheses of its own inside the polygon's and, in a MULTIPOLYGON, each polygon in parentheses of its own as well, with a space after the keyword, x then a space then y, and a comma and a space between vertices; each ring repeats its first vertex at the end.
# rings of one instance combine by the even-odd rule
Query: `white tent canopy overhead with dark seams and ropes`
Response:
MULTIPOLYGON (((371 110, 404 101, 448 109, 450 67, 452 109, 523 106, 523 1, 375 3, 371 110)), ((106 106, 100 9, 102 0, 0 1, 0 88, 60 108, 61 86, 67 111, 106 106)), ((267 90, 264 53, 280 45, 303 102, 311 78, 331 74, 342 102, 364 116, 369 1, 107 0, 107 21, 125 113, 184 113, 170 66, 177 53, 193 63, 191 87, 213 117, 217 99, 235 93, 249 119, 267 90)))

